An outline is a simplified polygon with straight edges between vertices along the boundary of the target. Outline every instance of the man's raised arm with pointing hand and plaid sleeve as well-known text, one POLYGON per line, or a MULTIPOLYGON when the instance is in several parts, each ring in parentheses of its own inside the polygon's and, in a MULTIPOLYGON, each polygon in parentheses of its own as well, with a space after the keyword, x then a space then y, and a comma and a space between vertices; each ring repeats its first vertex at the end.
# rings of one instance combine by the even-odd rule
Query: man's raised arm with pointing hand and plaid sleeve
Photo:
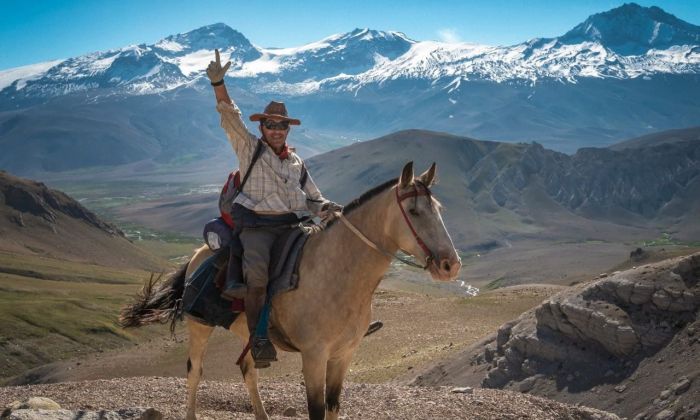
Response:
POLYGON ((222 67, 219 50, 214 51, 215 61, 209 63, 207 76, 214 87, 216 110, 221 114, 221 127, 226 132, 226 136, 234 152, 236 152, 238 160, 242 166, 246 166, 247 164, 244 161, 250 159, 252 150, 255 148, 255 136, 248 132, 241 118, 241 111, 231 100, 224 84, 224 76, 226 76, 226 71, 231 67, 231 62, 229 61, 222 67))

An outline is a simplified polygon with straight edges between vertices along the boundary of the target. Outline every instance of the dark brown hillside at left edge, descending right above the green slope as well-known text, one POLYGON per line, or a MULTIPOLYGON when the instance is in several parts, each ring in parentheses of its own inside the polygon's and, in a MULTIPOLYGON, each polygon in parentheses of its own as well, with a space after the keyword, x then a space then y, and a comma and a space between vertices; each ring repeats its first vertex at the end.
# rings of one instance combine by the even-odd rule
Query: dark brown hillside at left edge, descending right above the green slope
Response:
POLYGON ((61 191, 0 171, 0 252, 116 267, 161 267, 105 222, 61 191))

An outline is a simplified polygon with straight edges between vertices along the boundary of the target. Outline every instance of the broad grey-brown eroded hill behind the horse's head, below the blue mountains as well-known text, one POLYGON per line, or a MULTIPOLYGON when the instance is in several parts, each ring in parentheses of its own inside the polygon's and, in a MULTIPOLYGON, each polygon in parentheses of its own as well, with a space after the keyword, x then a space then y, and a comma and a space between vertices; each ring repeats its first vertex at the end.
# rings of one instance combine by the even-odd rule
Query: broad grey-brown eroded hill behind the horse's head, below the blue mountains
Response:
POLYGON ((315 156, 308 166, 324 194, 348 202, 395 177, 408 160, 416 168, 438 162, 435 192, 461 246, 535 234, 614 240, 650 227, 682 240, 700 237, 697 140, 570 156, 536 143, 408 130, 315 156))

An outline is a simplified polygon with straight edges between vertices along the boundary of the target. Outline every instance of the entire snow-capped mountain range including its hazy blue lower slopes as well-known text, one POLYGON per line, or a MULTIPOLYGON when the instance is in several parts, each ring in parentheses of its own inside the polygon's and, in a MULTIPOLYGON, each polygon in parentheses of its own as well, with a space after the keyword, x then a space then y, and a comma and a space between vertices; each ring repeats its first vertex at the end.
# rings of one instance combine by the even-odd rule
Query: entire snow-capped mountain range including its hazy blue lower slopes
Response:
MULTIPOLYGON (((416 41, 400 32, 355 29, 299 47, 263 48, 217 23, 152 45, 0 72, 0 143, 38 150, 54 137, 86 142, 85 125, 94 136, 89 144, 100 145, 115 132, 148 139, 127 148, 133 150, 128 157, 116 153, 121 163, 144 149, 162 158, 185 153, 173 144, 200 148, 191 137, 204 124, 211 146, 220 129, 216 115, 208 116, 205 69, 215 48, 232 62, 227 84, 244 114, 270 99, 284 100, 309 130, 298 140, 309 150, 328 150, 319 132, 338 139, 337 146, 423 128, 536 140, 573 152, 700 125, 700 27, 657 7, 626 4, 560 37, 511 46, 416 41), (173 120, 174 114, 199 120, 173 120), (100 127, 115 120, 119 129, 103 136, 100 127), (181 126, 174 130, 173 124, 181 126)), ((49 159, 37 154, 39 161, 49 159)), ((101 163, 109 164, 110 156, 101 163)), ((17 163, 0 158, 3 165, 17 163)))

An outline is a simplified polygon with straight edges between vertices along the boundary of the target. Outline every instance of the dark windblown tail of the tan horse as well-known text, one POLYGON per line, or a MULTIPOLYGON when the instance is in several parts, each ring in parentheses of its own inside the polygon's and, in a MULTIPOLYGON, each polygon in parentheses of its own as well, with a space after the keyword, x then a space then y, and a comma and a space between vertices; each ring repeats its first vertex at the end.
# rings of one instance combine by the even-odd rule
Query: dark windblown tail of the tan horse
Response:
POLYGON ((180 317, 182 295, 185 291, 185 273, 189 262, 163 280, 163 275, 151 278, 143 285, 135 300, 122 308, 119 325, 134 328, 142 325, 170 322, 170 332, 175 332, 175 324, 180 317))

